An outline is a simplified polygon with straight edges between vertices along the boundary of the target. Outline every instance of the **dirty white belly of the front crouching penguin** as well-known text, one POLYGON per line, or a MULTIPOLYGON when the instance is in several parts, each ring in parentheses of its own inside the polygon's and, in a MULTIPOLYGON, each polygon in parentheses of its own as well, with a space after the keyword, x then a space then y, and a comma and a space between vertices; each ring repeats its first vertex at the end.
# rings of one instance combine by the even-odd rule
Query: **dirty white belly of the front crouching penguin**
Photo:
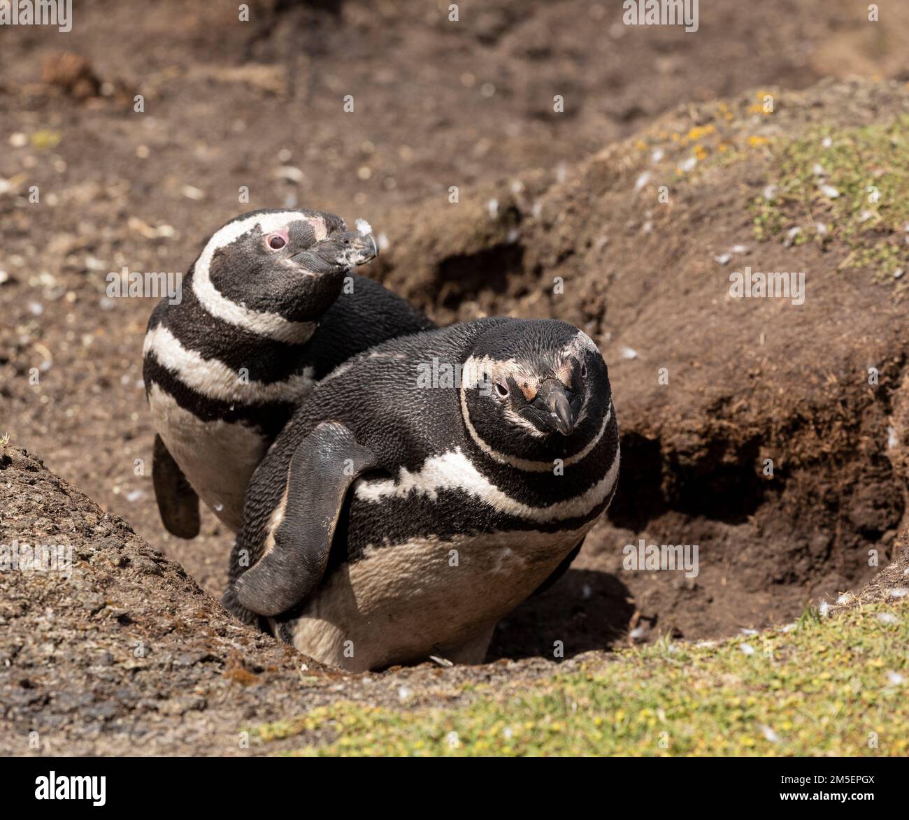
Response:
MULTIPOLYGON (((365 671, 456 659, 491 634, 577 545, 569 533, 512 532, 369 546, 338 569, 290 624, 295 647, 325 664, 365 671)), ((482 651, 480 659, 482 659, 482 651)))

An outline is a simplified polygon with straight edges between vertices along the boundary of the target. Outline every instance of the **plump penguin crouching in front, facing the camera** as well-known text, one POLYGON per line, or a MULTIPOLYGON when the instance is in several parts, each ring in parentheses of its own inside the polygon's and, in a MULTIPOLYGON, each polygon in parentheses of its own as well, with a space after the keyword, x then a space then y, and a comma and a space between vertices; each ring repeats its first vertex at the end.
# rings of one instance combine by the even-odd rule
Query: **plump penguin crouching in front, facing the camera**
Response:
POLYGON ((378 345, 316 385, 257 468, 225 603, 350 670, 479 663, 499 618, 567 568, 618 470, 606 365, 572 325, 378 345))

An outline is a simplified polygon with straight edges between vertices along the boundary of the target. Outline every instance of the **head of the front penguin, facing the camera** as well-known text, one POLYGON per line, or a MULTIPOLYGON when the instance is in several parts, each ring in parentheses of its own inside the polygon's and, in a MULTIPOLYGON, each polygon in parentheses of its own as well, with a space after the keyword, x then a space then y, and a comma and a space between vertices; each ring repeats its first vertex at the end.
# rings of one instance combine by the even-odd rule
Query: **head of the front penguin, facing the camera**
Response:
POLYGON ((611 401, 596 345, 554 319, 495 324, 463 367, 464 423, 489 455, 537 462, 575 455, 600 434, 611 401))

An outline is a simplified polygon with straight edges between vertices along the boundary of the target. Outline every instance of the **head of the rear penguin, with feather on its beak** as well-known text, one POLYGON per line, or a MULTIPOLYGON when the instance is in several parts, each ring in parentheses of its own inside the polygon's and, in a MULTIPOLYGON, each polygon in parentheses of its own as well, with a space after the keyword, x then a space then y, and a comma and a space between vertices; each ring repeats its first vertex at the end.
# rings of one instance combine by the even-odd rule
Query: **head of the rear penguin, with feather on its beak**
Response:
POLYGON ((209 239, 196 260, 194 287, 251 315, 315 321, 341 294, 350 270, 377 253, 372 235, 348 231, 340 216, 305 209, 253 211, 209 239))

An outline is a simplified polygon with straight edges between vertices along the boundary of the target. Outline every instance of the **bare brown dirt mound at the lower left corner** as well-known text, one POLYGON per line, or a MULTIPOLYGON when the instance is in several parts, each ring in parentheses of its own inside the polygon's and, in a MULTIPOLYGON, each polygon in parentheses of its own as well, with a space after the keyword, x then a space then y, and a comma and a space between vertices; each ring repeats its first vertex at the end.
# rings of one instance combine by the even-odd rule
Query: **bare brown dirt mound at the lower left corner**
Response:
POLYGON ((298 681, 294 653, 237 623, 180 565, 25 451, 0 450, 0 487, 7 560, 35 546, 72 549, 43 569, 4 567, 3 754, 131 754, 134 744, 230 754, 260 686, 298 681), (229 722, 218 720, 225 702, 229 722))

